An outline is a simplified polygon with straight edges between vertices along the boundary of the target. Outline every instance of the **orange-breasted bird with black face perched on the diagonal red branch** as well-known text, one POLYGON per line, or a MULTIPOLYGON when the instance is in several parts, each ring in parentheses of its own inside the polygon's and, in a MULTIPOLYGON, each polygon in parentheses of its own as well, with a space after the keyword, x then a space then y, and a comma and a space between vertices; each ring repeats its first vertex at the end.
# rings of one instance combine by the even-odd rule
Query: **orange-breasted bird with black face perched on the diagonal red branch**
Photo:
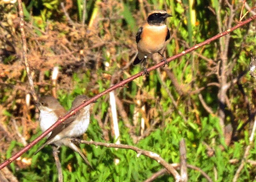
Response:
POLYGON ((141 26, 136 33, 136 43, 138 53, 133 61, 133 65, 143 63, 144 74, 148 74, 145 68, 148 55, 158 53, 163 57, 167 64, 166 58, 160 53, 163 50, 170 38, 170 31, 166 26, 166 18, 172 17, 166 11, 152 11, 148 14, 147 22, 141 26))

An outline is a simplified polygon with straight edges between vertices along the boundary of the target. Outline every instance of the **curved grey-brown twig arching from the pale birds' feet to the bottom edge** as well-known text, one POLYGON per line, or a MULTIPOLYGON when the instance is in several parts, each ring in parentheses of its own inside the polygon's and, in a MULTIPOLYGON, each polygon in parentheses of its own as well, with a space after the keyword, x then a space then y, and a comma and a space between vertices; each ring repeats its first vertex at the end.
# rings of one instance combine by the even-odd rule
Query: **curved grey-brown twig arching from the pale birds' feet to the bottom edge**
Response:
POLYGON ((113 143, 103 143, 103 142, 97 142, 97 141, 86 141, 86 140, 80 140, 80 139, 77 139, 77 138, 73 138, 72 141, 82 143, 82 144, 88 144, 88 145, 93 144, 93 145, 96 145, 96 146, 100 145, 100 146, 104 146, 104 147, 114 147, 114 148, 123 148, 123 149, 134 150, 137 153, 137 157, 139 157, 142 154, 142 155, 150 157, 151 159, 154 159, 155 161, 157 161, 158 163, 163 165, 163 167, 165 167, 166 170, 169 173, 172 173, 172 175, 174 176, 176 181, 181 180, 181 176, 172 167, 172 165, 170 165, 168 162, 166 162, 157 153, 154 153, 154 152, 151 152, 151 151, 148 151, 148 150, 142 150, 138 147, 131 146, 131 145, 125 145, 125 144, 113 144, 113 143))

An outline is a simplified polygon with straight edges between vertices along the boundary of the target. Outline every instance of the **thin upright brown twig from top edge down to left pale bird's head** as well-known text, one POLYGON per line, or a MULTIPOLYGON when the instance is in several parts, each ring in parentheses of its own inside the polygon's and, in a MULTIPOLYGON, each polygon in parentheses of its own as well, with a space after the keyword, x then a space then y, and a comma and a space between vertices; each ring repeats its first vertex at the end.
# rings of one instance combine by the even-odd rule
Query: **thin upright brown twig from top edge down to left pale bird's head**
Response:
POLYGON ((24 15, 23 15, 21 0, 18 0, 18 6, 19 6, 19 15, 20 15, 20 33, 21 33, 22 48, 23 48, 23 50, 22 50, 23 61, 24 61, 24 65, 25 65, 25 68, 26 68, 26 73, 27 73, 28 80, 29 80, 30 92, 33 96, 34 101, 37 102, 38 98, 35 94, 34 83, 33 83, 31 73, 30 73, 30 66, 29 66, 29 61, 28 61, 28 58, 27 58, 27 42, 26 42, 26 35, 25 35, 25 31, 24 31, 24 15))

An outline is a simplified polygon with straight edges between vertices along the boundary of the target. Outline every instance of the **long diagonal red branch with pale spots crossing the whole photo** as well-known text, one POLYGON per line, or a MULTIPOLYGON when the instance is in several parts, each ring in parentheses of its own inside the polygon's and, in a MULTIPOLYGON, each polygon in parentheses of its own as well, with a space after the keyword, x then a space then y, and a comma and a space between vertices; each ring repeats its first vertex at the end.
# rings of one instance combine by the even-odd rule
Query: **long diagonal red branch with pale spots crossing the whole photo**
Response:
MULTIPOLYGON (((172 57, 170 57, 169 59, 167 59, 167 62, 171 62, 172 60, 178 58, 178 57, 181 57, 199 47, 202 47, 206 44, 209 44, 210 42, 224 36, 224 35, 227 35, 229 34, 230 32, 234 31, 235 29, 238 29, 239 27, 251 22, 252 20, 255 20, 256 19, 256 15, 248 18, 247 20, 237 24, 236 26, 233 26, 231 29, 228 29, 218 35, 215 35, 213 36, 212 38, 209 38, 207 39, 206 41, 203 41, 199 44, 196 44, 194 45, 193 47, 190 47, 189 49, 187 50, 184 50, 182 51, 181 53, 179 54, 176 54, 172 57)), ((160 66, 163 66, 165 63, 162 61, 150 68, 148 68, 148 72, 149 71, 152 71, 152 70, 155 70, 156 68, 159 68, 160 66)), ((63 121, 65 121, 66 119, 68 119, 69 117, 71 117, 72 115, 74 115, 76 112, 78 112, 80 109, 82 109, 83 107, 89 105, 90 103, 92 103, 93 101, 96 101, 97 99, 99 99, 101 96, 105 95, 106 93, 109 93, 111 92, 112 90, 115 90, 119 87, 122 87, 124 86, 125 84, 129 83, 130 81, 134 80, 135 78, 138 78, 140 76, 142 76, 143 74, 143 71, 131 76, 130 78, 127 78, 113 86, 111 86, 110 88, 106 89, 105 91, 103 91, 102 93, 99 93, 98 95, 92 97, 90 100, 88 100, 87 102, 84 102, 83 104, 79 105, 77 108, 75 108, 74 110, 70 111, 68 114, 66 114, 65 116, 59 118, 56 123, 54 123, 49 129, 47 129, 44 133, 42 133, 38 138, 36 138, 35 140, 33 140, 31 143, 29 143, 26 147, 24 147, 22 150, 20 150, 19 152, 17 152, 16 154, 14 154, 13 156, 11 156, 9 159, 7 159, 5 162, 3 162, 1 165, 0 165, 0 169, 4 168, 6 165, 10 164, 11 162, 13 162, 15 159, 17 159, 19 156, 21 156, 23 153, 25 153, 27 150, 29 150, 31 147, 33 147, 35 144, 38 143, 38 141, 40 141, 42 138, 44 138, 48 133, 50 133, 56 126, 58 126, 60 123, 62 123, 63 121)))

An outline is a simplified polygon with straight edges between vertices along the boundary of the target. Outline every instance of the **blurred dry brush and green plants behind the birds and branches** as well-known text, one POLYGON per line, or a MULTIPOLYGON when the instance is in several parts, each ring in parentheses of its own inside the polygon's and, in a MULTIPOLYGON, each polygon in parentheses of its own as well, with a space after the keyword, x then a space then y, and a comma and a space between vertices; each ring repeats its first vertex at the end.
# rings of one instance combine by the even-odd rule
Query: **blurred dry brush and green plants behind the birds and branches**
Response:
MULTIPOLYGON (((23 1, 28 60, 38 95, 54 95, 66 108, 77 95, 89 97, 142 70, 133 66, 135 35, 152 10, 173 17, 166 57, 230 29, 255 15, 255 0, 26 0, 23 1), (249 12, 248 12, 249 11, 249 12), (57 70, 57 78, 52 78, 57 70)), ((0 162, 41 134, 38 110, 29 98, 22 64, 16 0, 0 1, 0 162)), ((256 142, 249 142, 255 117, 255 21, 242 26, 168 66, 151 71, 114 91, 120 143, 179 163, 186 141, 187 163, 214 181, 231 181, 245 147, 248 160, 238 181, 256 175, 256 142)), ((161 61, 158 54, 147 67, 161 61)), ((116 142, 109 94, 91 110, 85 140, 116 142)), ((8 168, 7 181, 57 181, 52 148, 36 155, 40 141, 8 168)), ((81 144, 93 165, 62 147, 64 181, 144 181, 163 168, 132 150, 81 144), (115 163, 114 159, 119 159, 115 163)), ((188 169, 189 181, 207 181, 188 169)), ((175 181, 165 174, 155 181, 175 181)))

